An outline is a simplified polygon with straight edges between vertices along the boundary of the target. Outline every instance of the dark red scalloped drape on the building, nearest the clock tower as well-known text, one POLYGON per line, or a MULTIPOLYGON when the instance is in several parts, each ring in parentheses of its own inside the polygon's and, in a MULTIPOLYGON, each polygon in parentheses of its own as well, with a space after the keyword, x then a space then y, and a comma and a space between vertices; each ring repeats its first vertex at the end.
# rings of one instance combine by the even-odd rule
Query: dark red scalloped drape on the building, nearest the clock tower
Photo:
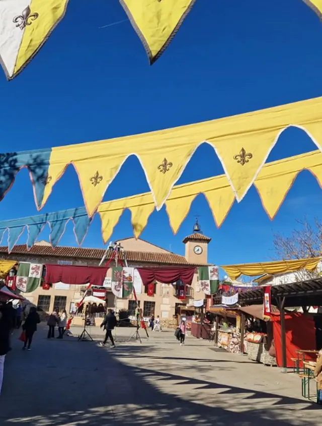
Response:
POLYGON ((158 281, 170 284, 181 280, 185 284, 191 284, 196 268, 138 268, 144 285, 158 281))

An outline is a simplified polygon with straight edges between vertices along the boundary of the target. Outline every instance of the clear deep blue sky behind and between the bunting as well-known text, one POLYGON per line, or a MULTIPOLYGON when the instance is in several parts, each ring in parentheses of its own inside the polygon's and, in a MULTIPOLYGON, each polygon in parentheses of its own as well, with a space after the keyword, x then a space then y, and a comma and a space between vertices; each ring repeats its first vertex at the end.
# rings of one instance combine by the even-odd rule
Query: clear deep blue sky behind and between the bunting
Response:
MULTIPOLYGON (((150 67, 118 0, 70 1, 65 19, 14 81, 0 74, 1 151, 95 141, 186 125, 322 95, 322 25, 301 0, 197 0, 166 52, 150 67)), ((283 133, 269 160, 315 149, 300 130, 283 133)), ((214 151, 201 146, 179 183, 221 174, 214 151)), ((136 158, 129 158, 104 200, 148 190, 136 158)), ((44 212, 83 205, 72 166, 54 187, 44 212)), ((182 239, 194 215, 212 238, 209 262, 270 260, 273 232, 288 234, 295 219, 318 216, 321 191, 302 172, 274 221, 252 188, 217 229, 204 197, 174 236, 163 209, 142 238, 184 254, 182 239)), ((27 170, 0 204, 0 219, 37 214, 27 170)), ((113 238, 132 235, 125 212, 113 238)), ((46 239, 48 230, 40 238, 46 239)), ((25 236, 20 239, 25 242, 25 236)), ((75 245, 71 226, 60 241, 75 245)), ((97 217, 83 244, 103 247, 97 217)))

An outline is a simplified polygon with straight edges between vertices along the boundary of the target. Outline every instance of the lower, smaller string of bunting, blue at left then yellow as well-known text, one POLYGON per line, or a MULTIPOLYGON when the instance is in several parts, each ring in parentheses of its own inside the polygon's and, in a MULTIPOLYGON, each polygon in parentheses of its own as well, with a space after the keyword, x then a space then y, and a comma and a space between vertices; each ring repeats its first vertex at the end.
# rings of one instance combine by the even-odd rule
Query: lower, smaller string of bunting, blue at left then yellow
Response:
MULTIPOLYGON (((304 169, 309 170, 322 187, 322 153, 317 150, 267 163, 258 174, 254 186, 259 193, 265 211, 271 219, 275 217, 296 176, 304 169)), ((218 227, 226 218, 235 200, 225 175, 175 186, 166 201, 166 211, 174 233, 178 231, 189 213, 192 202, 199 194, 204 194, 218 227)), ((107 201, 99 206, 98 214, 102 221, 102 236, 105 243, 110 239, 114 227, 125 209, 131 212, 133 232, 135 237, 138 238, 155 209, 152 194, 143 193, 107 201)), ((8 250, 11 252, 27 227, 27 248, 30 249, 48 223, 50 243, 52 247, 56 247, 67 223, 71 221, 76 241, 78 245, 82 245, 93 218, 94 216, 88 216, 85 207, 80 207, 20 219, 4 220, 0 221, 0 240, 3 240, 6 230, 8 230, 8 250)))

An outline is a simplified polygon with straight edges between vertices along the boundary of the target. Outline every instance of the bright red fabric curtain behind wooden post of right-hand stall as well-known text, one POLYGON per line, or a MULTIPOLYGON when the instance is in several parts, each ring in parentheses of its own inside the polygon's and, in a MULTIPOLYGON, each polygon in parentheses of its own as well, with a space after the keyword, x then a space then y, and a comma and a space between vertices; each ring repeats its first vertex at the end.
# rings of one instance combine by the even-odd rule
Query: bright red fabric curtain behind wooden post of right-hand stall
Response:
MULTIPOLYGON (((280 314, 272 314, 274 343, 276 350, 276 361, 279 367, 282 367, 282 334, 280 314)), ((285 313, 285 331, 286 331, 286 364, 287 367, 293 367, 291 358, 297 358, 298 349, 316 349, 315 325, 313 318, 300 313, 285 313)), ((300 356, 302 359, 302 356, 300 356)), ((312 355, 305 354, 305 359, 315 360, 312 355)))

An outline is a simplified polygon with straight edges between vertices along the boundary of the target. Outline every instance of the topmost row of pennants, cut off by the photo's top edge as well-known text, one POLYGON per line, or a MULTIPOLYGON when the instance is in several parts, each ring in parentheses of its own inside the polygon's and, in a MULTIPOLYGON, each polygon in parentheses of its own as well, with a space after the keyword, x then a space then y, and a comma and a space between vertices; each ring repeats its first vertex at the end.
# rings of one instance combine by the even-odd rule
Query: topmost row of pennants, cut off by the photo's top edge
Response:
MULTIPOLYGON (((33 59, 64 18, 69 0, 0 2, 0 63, 9 80, 33 59)), ((196 0, 120 0, 143 43, 149 63, 162 55, 196 0)), ((303 0, 322 16, 322 0, 303 0)), ((70 31, 72 34, 72 32, 70 31)))

